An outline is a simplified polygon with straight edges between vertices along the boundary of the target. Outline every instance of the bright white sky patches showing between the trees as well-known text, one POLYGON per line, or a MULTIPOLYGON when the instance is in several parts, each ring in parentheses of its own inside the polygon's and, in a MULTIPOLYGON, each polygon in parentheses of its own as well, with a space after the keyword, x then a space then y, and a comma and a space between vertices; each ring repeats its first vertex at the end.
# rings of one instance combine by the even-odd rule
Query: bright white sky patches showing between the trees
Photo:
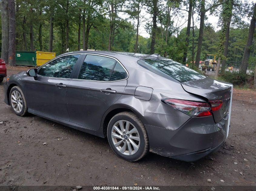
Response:
MULTIPOLYGON (((244 2, 244 0, 242 0, 244 2)), ((251 4, 251 3, 255 3, 255 0, 248 0, 248 2, 251 4)), ((186 9, 186 7, 183 7, 182 9, 186 9)), ((188 12, 187 11, 181 11, 182 14, 185 15, 184 18, 181 18, 180 16, 178 17, 175 17, 174 21, 174 25, 180 25, 180 29, 184 28, 187 26, 188 24, 188 21, 187 21, 187 17, 188 17, 188 12)), ((144 16, 144 18, 150 18, 150 14, 146 13, 146 11, 144 9, 141 10, 141 15, 144 16)), ((220 27, 218 27, 218 17, 214 16, 214 15, 210 15, 210 11, 208 11, 206 13, 206 16, 207 16, 207 20, 205 21, 208 22, 208 23, 211 23, 211 25, 214 27, 215 30, 220 30, 220 27)), ((198 14, 194 14, 194 24, 195 26, 197 26, 199 28, 199 25, 200 25, 200 21, 199 21, 199 16, 198 14)), ((248 22, 250 23, 250 18, 243 18, 243 20, 245 22, 248 22)), ((143 21, 143 19, 141 19, 141 23, 140 23, 140 26, 139 26, 139 34, 143 37, 146 37, 146 38, 149 38, 150 37, 150 34, 147 33, 147 31, 145 30, 145 24, 147 23, 147 21, 143 21)), ((150 19, 150 21, 152 21, 152 19, 150 19)), ((136 22, 136 21, 132 21, 132 22, 136 22)), ((135 23, 135 26, 136 26, 137 23, 135 23)), ((160 26, 160 25, 159 25, 160 26)), ((192 21, 191 21, 191 26, 192 26, 192 21)))

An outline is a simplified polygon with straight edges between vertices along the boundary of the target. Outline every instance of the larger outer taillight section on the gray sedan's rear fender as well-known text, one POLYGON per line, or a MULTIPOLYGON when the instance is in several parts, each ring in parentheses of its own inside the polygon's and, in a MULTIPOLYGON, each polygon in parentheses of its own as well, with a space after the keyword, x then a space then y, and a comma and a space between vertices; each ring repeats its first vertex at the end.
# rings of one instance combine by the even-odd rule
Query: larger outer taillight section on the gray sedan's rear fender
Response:
POLYGON ((162 102, 193 117, 211 115, 211 106, 208 103, 178 100, 173 98, 162 99, 162 102))

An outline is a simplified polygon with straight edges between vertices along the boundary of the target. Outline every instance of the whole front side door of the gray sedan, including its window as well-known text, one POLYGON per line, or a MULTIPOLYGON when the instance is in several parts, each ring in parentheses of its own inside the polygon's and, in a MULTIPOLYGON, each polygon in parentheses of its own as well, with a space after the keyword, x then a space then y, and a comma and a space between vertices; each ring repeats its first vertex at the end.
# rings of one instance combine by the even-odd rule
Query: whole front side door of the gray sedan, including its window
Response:
POLYGON ((66 107, 67 86, 74 75, 73 68, 80 55, 58 57, 38 68, 36 78, 28 78, 26 96, 29 109, 69 121, 66 107))

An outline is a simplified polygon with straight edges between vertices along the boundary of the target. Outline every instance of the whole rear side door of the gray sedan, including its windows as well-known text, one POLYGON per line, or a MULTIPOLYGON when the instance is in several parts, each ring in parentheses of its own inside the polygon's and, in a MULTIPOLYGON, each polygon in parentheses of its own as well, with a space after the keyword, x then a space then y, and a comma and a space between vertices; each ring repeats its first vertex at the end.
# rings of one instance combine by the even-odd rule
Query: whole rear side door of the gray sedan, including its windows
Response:
POLYGON ((87 54, 67 90, 70 122, 98 130, 105 111, 122 95, 128 72, 114 58, 87 54))

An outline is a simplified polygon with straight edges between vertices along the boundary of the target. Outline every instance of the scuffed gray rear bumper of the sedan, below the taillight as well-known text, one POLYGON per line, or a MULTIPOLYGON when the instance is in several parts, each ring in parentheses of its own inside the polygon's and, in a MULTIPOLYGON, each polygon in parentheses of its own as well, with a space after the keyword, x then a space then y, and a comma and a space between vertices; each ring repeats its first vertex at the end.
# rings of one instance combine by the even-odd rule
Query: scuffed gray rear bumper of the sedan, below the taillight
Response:
POLYGON ((227 138, 228 119, 192 117, 177 130, 145 125, 151 152, 184 161, 196 161, 216 151, 227 138))

